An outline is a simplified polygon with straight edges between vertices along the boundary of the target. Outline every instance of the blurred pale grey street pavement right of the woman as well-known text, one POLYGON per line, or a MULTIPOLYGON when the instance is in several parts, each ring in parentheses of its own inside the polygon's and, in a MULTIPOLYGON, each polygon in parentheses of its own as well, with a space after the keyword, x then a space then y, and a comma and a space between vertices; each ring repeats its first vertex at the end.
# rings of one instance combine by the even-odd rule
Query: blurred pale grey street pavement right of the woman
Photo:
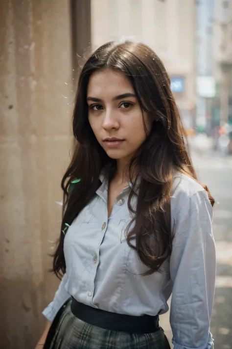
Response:
MULTIPOLYGON (((193 151, 192 157, 201 183, 207 183, 215 198, 213 234, 217 251, 217 277, 211 332, 215 349, 232 348, 232 157, 211 148, 193 151)), ((161 325, 171 339, 169 314, 161 325)))

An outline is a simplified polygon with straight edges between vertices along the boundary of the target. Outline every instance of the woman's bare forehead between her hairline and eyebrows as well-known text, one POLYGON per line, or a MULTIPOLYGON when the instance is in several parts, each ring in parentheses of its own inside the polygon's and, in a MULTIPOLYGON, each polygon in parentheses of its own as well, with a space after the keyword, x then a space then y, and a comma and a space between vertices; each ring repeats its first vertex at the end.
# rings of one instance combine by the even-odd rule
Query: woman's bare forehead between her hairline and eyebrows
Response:
POLYGON ((128 92, 135 93, 124 74, 111 69, 102 69, 91 75, 87 97, 108 99, 128 92))

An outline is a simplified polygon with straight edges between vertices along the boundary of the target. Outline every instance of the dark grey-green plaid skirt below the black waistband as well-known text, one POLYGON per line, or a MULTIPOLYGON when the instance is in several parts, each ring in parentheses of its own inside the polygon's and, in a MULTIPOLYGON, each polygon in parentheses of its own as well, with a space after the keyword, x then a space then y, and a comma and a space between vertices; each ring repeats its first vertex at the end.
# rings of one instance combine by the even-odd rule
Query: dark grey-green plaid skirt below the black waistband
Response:
POLYGON ((144 334, 106 330, 76 318, 70 303, 63 305, 52 322, 44 349, 170 349, 161 327, 144 334))

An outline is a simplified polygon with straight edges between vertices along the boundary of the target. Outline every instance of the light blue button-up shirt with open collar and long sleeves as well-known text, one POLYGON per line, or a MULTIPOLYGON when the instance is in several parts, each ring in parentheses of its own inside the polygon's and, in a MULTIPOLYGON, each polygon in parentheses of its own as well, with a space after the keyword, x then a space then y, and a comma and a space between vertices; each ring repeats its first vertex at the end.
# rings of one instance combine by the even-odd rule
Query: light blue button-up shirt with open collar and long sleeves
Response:
POLYGON ((131 188, 116 198, 108 219, 108 180, 104 175, 100 179, 102 185, 66 233, 66 273, 43 314, 52 321, 72 295, 79 302, 114 313, 161 315, 168 311, 172 294, 174 349, 212 349, 209 322, 216 262, 207 192, 186 175, 175 177, 172 253, 163 263, 162 273, 143 276, 148 268, 125 238, 131 220, 127 207, 131 188))

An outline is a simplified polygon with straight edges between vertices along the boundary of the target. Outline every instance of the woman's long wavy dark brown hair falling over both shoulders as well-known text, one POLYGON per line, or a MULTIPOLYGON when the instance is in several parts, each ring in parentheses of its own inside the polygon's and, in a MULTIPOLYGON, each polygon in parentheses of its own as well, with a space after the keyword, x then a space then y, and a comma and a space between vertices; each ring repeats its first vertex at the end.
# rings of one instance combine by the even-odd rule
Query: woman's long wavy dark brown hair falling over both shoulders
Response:
MULTIPOLYGON (((130 180, 139 190, 132 189, 129 195, 128 207, 135 226, 128 229, 127 242, 137 249, 140 260, 149 268, 147 274, 160 270, 171 254, 170 196, 174 171, 181 171, 197 180, 186 148, 181 117, 170 90, 170 79, 162 61, 143 44, 127 41, 101 46, 86 61, 78 81, 72 121, 77 144, 62 179, 63 221, 53 259, 53 271, 58 277, 66 271, 63 250, 65 223, 70 225, 89 203, 100 186, 98 178, 102 168, 110 163, 115 165, 97 142, 88 121, 88 82, 94 71, 103 68, 117 70, 127 76, 142 112, 148 112, 154 120, 151 133, 129 163, 130 180), (135 168, 139 169, 136 178, 135 168), (77 178, 81 182, 68 192, 70 182, 77 178), (131 204, 134 195, 138 196, 136 211, 131 204), (131 243, 134 235, 136 246, 131 243)), ((210 194, 209 198, 213 205, 210 194)))

